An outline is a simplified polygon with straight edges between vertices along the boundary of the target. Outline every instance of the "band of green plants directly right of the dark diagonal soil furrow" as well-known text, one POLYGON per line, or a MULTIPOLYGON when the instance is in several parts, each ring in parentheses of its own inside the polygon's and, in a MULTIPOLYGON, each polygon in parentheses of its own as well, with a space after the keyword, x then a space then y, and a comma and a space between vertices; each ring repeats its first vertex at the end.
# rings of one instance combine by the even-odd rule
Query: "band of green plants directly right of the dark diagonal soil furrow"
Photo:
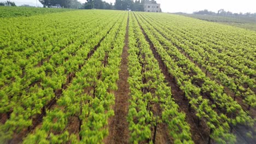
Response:
POLYGON ((253 119, 224 93, 222 86, 206 77, 200 68, 155 30, 154 27, 158 27, 156 22, 150 25, 141 15, 136 14, 136 17, 169 73, 175 77, 185 97, 190 101, 189 107, 195 110, 200 121, 206 121, 213 140, 235 142, 235 135, 230 133, 230 126, 243 124, 253 127, 253 119))

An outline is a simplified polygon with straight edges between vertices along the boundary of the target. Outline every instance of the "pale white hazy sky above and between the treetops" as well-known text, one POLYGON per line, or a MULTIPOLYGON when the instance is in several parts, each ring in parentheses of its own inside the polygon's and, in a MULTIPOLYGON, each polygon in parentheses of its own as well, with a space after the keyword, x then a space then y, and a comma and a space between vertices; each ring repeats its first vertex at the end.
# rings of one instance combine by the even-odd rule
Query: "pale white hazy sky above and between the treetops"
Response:
MULTIPOLYGON (((6 0, 0 0, 3 2, 6 0)), ((17 5, 30 4, 36 5, 36 0, 10 0, 17 5)), ((85 2, 86 0, 78 0, 85 2)), ((106 2, 112 2, 115 0, 105 0, 106 2)), ((193 11, 208 9, 217 12, 219 9, 231 11, 232 13, 256 13, 256 1, 255 0, 156 0, 161 4, 161 9, 164 12, 185 12, 192 13, 193 11)), ((38 2, 38 5, 42 6, 38 2)))

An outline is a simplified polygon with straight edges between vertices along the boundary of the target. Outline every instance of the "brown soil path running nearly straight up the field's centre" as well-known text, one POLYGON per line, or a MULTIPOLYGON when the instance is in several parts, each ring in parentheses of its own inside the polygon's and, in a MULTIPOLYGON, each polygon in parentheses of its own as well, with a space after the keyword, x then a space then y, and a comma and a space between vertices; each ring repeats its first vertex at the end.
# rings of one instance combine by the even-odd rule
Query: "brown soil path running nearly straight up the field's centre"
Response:
POLYGON ((126 120, 129 107, 129 77, 128 72, 128 29, 129 17, 127 19, 125 46, 122 53, 121 70, 117 81, 118 90, 115 91, 115 116, 109 120, 109 135, 104 139, 104 143, 129 143, 129 124, 126 120))

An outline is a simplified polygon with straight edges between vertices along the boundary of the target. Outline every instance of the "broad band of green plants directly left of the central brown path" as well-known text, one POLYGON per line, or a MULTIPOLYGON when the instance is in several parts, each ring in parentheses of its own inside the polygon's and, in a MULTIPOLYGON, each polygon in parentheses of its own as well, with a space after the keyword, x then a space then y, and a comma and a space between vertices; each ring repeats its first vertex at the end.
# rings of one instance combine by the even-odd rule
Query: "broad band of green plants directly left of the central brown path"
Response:
POLYGON ((108 135, 106 126, 114 115, 112 91, 117 89, 126 20, 127 13, 123 13, 57 100, 57 106, 46 113, 42 126, 24 143, 100 143, 108 135), (79 120, 79 136, 68 131, 72 117, 79 120))

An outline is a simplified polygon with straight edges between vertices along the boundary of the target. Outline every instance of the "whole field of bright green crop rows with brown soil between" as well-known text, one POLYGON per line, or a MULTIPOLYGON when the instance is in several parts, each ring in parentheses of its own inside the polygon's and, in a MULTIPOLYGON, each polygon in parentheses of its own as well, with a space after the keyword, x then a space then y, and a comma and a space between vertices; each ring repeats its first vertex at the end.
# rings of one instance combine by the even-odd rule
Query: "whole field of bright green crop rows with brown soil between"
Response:
POLYGON ((0 143, 256 141, 255 31, 35 9, 0 14, 0 143))

